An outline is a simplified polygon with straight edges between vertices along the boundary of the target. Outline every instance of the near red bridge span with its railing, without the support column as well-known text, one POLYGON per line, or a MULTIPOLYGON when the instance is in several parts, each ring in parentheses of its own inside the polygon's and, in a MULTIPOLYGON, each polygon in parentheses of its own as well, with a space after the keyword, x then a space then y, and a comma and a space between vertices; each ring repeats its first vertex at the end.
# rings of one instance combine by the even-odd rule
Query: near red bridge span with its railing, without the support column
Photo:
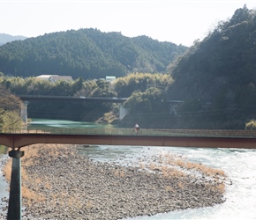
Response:
POLYGON ((139 136, 134 136, 132 129, 127 128, 50 128, 0 134, 0 144, 12 149, 34 143, 256 149, 256 132, 142 129, 139 136))

